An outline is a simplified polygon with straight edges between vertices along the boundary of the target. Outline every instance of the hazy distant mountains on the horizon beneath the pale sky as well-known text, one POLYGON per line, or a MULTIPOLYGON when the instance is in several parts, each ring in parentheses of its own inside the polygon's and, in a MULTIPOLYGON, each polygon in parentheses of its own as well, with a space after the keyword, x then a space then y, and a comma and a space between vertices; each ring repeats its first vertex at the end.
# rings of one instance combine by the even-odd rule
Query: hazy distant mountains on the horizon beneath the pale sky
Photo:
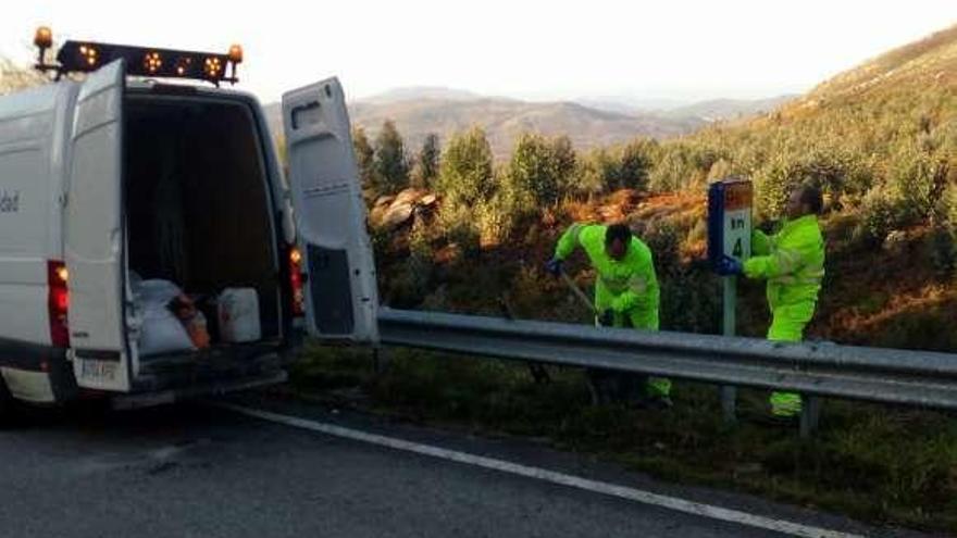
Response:
MULTIPOLYGON (((456 132, 481 125, 493 151, 501 158, 508 155, 514 139, 525 132, 568 135, 576 148, 587 149, 638 136, 686 135, 717 120, 768 112, 786 99, 714 100, 687 107, 672 102, 674 107, 670 110, 646 111, 613 101, 535 102, 443 87, 410 87, 358 99, 349 103, 349 115, 352 124, 363 127, 370 138, 375 137, 383 122, 394 121, 410 151, 419 148, 430 133, 448 139, 456 132)), ((266 114, 273 132, 282 133, 278 104, 268 105, 266 114)))

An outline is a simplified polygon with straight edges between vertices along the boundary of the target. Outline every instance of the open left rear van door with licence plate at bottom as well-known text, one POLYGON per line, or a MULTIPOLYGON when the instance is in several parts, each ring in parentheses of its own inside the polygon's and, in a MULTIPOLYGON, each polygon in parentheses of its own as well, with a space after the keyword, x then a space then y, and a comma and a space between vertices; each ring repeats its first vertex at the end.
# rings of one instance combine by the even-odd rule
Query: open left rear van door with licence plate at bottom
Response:
POLYGON ((128 390, 124 323, 122 151, 124 64, 87 77, 73 118, 63 226, 70 355, 80 387, 128 390))

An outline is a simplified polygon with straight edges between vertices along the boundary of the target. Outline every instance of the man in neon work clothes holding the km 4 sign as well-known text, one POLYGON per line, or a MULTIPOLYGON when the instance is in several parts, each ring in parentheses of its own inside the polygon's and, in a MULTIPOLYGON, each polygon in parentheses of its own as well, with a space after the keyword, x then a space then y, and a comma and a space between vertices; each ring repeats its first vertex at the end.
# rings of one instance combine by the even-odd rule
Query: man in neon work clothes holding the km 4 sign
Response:
MULTIPOLYGON (((824 239, 818 223, 822 205, 820 189, 798 187, 787 199, 781 230, 770 237, 760 230, 753 233, 755 257, 743 265, 733 258, 724 259, 728 272, 768 280, 769 340, 800 341, 805 326, 815 315, 824 277, 824 239)), ((771 393, 774 417, 792 420, 800 415, 800 395, 771 393)))

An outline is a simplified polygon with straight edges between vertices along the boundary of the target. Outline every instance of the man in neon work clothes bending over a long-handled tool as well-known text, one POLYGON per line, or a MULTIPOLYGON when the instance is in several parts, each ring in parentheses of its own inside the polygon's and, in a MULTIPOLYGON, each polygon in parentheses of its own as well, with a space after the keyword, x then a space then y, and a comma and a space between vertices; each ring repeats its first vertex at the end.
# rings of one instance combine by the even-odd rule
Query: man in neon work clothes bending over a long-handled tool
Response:
MULTIPOLYGON (((658 278, 648 246, 634 237, 624 224, 573 224, 559 238, 555 257, 546 265, 548 272, 560 276, 562 263, 577 247, 585 251, 597 273, 594 303, 596 324, 658 330, 658 278)), ((633 398, 644 380, 645 403, 671 406, 669 379, 646 379, 644 376, 613 375, 601 371, 589 371, 588 374, 596 403, 633 398), (608 381, 612 381, 613 392, 617 392, 611 398, 605 393, 608 381), (625 391, 632 393, 622 393, 625 391)))

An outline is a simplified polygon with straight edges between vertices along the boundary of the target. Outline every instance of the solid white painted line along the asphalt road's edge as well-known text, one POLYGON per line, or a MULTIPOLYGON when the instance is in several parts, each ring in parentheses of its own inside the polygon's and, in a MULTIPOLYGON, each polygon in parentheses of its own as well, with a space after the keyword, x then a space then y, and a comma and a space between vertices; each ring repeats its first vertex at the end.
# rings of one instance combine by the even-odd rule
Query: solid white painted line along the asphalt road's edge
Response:
POLYGON ((478 467, 499 471, 502 473, 509 473, 527 478, 559 484, 562 486, 584 489, 586 491, 592 491, 595 493, 618 497, 621 499, 627 499, 630 501, 636 501, 644 504, 661 506, 678 512, 684 512, 687 514, 710 517, 712 520, 719 520, 723 522, 736 523, 738 525, 763 528, 778 533, 784 533, 792 536, 801 536, 807 538, 862 538, 860 535, 840 533, 836 530, 829 530, 825 528, 801 525, 799 523, 773 520, 771 517, 754 515, 737 510, 729 510, 711 504, 687 501, 684 499, 679 499, 676 497, 668 497, 625 486, 589 480, 586 478, 581 478, 579 476, 558 473, 556 471, 548 471, 546 468, 521 465, 504 460, 496 460, 494 458, 470 454, 468 452, 460 452, 458 450, 448 450, 431 445, 421 445, 418 442, 396 439, 394 437, 368 434, 358 429, 344 428, 334 424, 325 424, 307 418, 299 418, 297 416, 282 415, 278 413, 272 413, 269 411, 262 411, 243 405, 234 405, 229 403, 217 403, 216 405, 247 416, 253 416, 256 418, 283 424, 286 426, 309 429, 312 431, 319 431, 321 434, 332 435, 360 442, 368 442, 371 445, 387 447, 395 450, 403 450, 406 452, 413 452, 417 454, 440 458, 443 460, 464 463, 467 465, 475 465, 478 467))

